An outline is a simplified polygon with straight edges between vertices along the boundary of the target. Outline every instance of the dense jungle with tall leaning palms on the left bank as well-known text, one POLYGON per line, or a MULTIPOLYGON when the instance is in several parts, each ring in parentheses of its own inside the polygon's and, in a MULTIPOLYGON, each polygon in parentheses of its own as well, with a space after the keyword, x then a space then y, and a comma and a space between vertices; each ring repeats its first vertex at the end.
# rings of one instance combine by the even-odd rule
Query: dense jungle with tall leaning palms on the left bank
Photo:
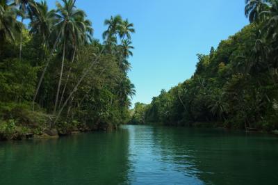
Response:
POLYGON ((75 0, 55 10, 47 1, 0 0, 0 140, 126 122, 135 30, 120 15, 104 24, 101 43, 75 0))

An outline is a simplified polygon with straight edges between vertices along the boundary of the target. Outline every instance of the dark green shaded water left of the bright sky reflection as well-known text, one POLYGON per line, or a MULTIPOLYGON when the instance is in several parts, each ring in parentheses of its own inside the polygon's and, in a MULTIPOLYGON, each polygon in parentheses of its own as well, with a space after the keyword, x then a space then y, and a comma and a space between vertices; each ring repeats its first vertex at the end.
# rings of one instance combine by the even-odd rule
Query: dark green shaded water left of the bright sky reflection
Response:
POLYGON ((129 132, 0 144, 0 184, 129 184, 129 132))

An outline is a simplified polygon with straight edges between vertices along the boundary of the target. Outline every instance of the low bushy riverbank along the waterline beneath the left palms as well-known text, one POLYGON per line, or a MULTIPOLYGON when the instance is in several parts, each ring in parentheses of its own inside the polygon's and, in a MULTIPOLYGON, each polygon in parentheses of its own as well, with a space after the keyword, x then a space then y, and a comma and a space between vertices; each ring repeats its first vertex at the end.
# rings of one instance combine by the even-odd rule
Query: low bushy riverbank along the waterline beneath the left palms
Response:
POLYGON ((0 120, 0 141, 33 138, 58 138, 90 131, 117 129, 115 124, 95 122, 85 124, 77 120, 59 120, 54 124, 54 116, 24 111, 16 119, 0 120))

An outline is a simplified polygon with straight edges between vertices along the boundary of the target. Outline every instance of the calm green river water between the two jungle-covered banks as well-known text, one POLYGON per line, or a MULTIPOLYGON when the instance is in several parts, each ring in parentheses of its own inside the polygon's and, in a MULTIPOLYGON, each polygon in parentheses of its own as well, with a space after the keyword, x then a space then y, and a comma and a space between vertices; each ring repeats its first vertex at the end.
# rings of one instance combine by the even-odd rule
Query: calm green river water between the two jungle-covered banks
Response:
POLYGON ((0 184, 278 184, 278 138, 127 125, 2 142, 0 184))

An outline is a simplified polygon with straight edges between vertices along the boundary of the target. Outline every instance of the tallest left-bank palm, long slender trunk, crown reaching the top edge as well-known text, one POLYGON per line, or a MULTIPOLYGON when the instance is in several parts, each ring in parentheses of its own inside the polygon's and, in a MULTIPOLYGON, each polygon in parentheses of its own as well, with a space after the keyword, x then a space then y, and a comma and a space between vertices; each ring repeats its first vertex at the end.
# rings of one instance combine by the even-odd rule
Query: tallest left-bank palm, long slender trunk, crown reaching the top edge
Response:
POLYGON ((56 29, 58 31, 62 31, 62 63, 60 69, 60 77, 58 81, 58 88, 56 93, 55 105, 54 105, 54 114, 56 113, 56 108, 58 106, 58 98, 60 94, 60 85, 63 78, 63 70, 64 70, 64 63, 65 63, 65 49, 67 42, 70 42, 71 36, 74 38, 73 35, 79 36, 80 28, 79 28, 79 20, 82 17, 85 17, 85 13, 83 10, 76 9, 74 6, 74 1, 72 0, 63 0, 63 6, 56 2, 56 6, 58 8, 56 17, 59 19, 58 24, 56 25, 56 29))

